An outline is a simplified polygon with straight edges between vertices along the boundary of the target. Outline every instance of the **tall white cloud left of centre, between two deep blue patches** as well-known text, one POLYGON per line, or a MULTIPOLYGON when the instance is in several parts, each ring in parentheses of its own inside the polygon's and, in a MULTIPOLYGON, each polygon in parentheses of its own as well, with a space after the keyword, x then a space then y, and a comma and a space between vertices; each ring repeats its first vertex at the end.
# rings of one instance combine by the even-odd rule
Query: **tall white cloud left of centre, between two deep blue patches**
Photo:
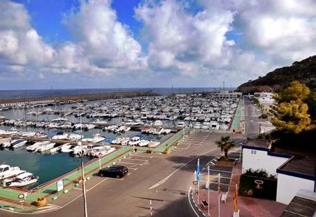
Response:
POLYGON ((142 69, 146 66, 141 45, 128 27, 117 21, 111 1, 82 1, 79 11, 68 14, 64 23, 94 67, 142 69))

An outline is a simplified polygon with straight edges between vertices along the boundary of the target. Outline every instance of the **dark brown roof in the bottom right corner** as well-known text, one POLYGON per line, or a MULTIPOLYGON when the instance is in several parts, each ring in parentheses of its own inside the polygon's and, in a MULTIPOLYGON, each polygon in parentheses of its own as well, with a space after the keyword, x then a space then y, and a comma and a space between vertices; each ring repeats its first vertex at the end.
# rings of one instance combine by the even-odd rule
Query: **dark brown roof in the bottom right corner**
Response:
POLYGON ((295 196, 280 217, 312 217, 315 212, 315 197, 295 196))

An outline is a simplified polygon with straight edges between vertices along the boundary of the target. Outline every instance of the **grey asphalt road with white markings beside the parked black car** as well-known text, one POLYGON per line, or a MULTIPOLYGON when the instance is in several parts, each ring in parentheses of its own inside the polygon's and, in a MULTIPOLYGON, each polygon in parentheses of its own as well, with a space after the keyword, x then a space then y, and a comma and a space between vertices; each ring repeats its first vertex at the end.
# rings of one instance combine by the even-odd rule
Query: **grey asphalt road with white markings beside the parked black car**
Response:
MULTIPOLYGON (((214 141, 222 135, 210 134, 202 145, 177 149, 170 156, 153 154, 153 158, 137 170, 131 170, 124 179, 93 177, 87 183, 90 185, 87 187, 88 216, 150 216, 150 200, 154 216, 196 216, 188 202, 188 189, 194 179, 197 158, 200 158, 201 168, 205 167, 220 153, 214 141), (91 183, 98 185, 93 187, 91 183)), ((240 135, 232 137, 239 137, 236 141, 245 139, 240 135)), ((84 216, 81 191, 72 191, 78 191, 78 198, 67 206, 54 212, 27 216, 84 216)), ((63 206, 63 196, 56 204, 63 206)), ((0 216, 24 215, 0 212, 0 216)))

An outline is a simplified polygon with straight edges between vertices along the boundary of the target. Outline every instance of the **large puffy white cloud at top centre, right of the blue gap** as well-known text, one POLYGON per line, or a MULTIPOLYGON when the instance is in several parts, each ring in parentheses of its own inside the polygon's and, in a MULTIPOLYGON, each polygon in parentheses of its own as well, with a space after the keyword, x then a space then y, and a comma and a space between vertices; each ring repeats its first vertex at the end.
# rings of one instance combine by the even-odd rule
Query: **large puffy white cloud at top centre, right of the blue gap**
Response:
POLYGON ((225 34, 233 21, 232 12, 190 14, 179 2, 170 0, 157 4, 145 1, 135 14, 144 23, 144 32, 150 34, 150 67, 193 73, 201 67, 229 63, 229 47, 234 41, 227 41, 225 34))

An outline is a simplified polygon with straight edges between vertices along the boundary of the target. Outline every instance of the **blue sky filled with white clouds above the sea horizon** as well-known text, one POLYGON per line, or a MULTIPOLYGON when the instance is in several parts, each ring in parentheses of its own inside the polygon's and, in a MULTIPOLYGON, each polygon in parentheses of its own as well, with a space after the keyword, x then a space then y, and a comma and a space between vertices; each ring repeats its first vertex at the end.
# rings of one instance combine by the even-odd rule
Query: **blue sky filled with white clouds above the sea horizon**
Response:
POLYGON ((0 89, 237 87, 316 53, 315 0, 0 0, 0 89))

